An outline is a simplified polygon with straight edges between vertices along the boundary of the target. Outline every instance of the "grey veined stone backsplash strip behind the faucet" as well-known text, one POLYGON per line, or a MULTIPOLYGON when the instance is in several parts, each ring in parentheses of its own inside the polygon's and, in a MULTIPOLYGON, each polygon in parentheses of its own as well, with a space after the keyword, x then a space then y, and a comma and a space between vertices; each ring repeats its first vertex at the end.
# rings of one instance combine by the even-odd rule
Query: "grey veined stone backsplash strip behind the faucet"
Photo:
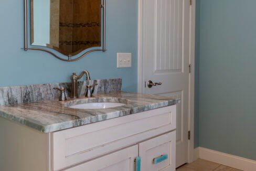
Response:
MULTIPOLYGON (((78 82, 79 97, 83 97, 86 92, 86 86, 93 83, 98 83, 98 86, 95 86, 94 88, 94 94, 121 91, 121 87, 122 87, 121 78, 79 81, 78 82)), ((0 106, 58 99, 60 92, 57 90, 54 90, 55 87, 65 88, 67 97, 70 96, 71 82, 33 84, 29 86, 2 87, 0 88, 0 106)))

